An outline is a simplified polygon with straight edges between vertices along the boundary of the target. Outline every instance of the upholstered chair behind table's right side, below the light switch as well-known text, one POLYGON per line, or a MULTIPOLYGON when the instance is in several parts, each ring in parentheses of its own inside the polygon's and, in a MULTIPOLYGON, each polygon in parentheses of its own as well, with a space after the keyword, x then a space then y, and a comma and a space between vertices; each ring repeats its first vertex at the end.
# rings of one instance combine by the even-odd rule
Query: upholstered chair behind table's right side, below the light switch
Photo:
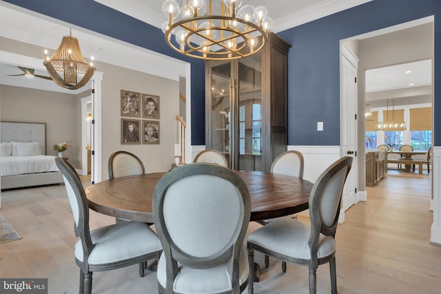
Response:
MULTIPOLYGON (((283 174, 287 176, 294 176, 296 178, 303 178, 303 169, 305 166, 305 160, 300 151, 289 150, 282 154, 279 154, 271 164, 271 169, 269 170, 274 174, 283 174)), ((291 214, 290 216, 284 216, 282 218, 297 218, 296 214, 291 214)), ((273 218, 270 220, 258 221, 260 224, 267 224, 268 222, 274 222, 280 218, 273 218)), ((265 255, 265 268, 269 266, 269 257, 265 255)), ((285 273, 287 271, 286 262, 282 262, 282 271, 285 273)), ((257 281, 256 281, 257 282, 257 281)))

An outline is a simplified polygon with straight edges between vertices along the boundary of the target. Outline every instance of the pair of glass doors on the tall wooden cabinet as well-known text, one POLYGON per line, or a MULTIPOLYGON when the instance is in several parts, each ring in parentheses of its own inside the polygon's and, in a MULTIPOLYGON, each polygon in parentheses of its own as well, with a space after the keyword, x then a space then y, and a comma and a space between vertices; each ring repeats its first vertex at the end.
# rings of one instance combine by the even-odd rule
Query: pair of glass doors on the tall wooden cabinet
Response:
POLYGON ((261 55, 209 63, 207 145, 225 155, 232 169, 262 171, 261 55))

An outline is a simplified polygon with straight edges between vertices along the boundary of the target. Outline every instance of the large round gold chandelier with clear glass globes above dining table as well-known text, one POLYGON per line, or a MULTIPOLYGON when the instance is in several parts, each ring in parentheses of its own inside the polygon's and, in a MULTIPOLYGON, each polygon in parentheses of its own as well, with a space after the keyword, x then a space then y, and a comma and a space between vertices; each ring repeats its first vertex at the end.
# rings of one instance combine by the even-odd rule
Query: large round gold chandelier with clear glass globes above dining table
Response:
POLYGON ((259 52, 267 43, 273 20, 263 6, 242 5, 242 0, 218 0, 220 12, 212 12, 212 0, 165 0, 162 25, 171 48, 198 59, 240 59, 259 52), (208 10, 208 11, 207 11, 208 10), (174 35, 174 37, 172 37, 174 35))

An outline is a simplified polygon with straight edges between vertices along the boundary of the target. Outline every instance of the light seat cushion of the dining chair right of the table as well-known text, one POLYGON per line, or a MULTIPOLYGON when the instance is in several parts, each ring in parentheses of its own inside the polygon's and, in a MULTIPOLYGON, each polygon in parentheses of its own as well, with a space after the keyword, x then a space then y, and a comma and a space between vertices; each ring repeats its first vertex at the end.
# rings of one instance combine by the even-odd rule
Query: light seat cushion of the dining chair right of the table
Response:
MULTIPOLYGON (((311 249, 308 245, 310 235, 309 222, 283 218, 256 229, 249 234, 248 241, 291 258, 309 260, 311 259, 311 249)), ((320 233, 318 258, 329 256, 334 251, 336 251, 334 238, 320 233)))

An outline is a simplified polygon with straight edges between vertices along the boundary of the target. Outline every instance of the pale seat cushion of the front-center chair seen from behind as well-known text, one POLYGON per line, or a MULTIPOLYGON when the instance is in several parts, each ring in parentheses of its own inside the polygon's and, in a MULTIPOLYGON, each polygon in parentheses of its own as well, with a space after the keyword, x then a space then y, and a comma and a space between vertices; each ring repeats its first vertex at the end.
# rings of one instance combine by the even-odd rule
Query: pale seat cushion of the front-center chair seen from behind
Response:
MULTIPOLYGON (((196 293, 226 293, 231 291, 232 277, 227 271, 227 264, 231 260, 224 262, 223 266, 215 266, 211 269, 192 269, 189 266, 183 267, 178 263, 178 275, 174 280, 173 290, 183 294, 196 293), (213 283, 216 281, 216 283, 213 283)), ((158 283, 165 287, 167 275, 165 272, 165 258, 161 255, 158 262, 158 283)), ((242 246, 239 256, 239 284, 247 282, 249 274, 249 264, 247 250, 242 246)))

